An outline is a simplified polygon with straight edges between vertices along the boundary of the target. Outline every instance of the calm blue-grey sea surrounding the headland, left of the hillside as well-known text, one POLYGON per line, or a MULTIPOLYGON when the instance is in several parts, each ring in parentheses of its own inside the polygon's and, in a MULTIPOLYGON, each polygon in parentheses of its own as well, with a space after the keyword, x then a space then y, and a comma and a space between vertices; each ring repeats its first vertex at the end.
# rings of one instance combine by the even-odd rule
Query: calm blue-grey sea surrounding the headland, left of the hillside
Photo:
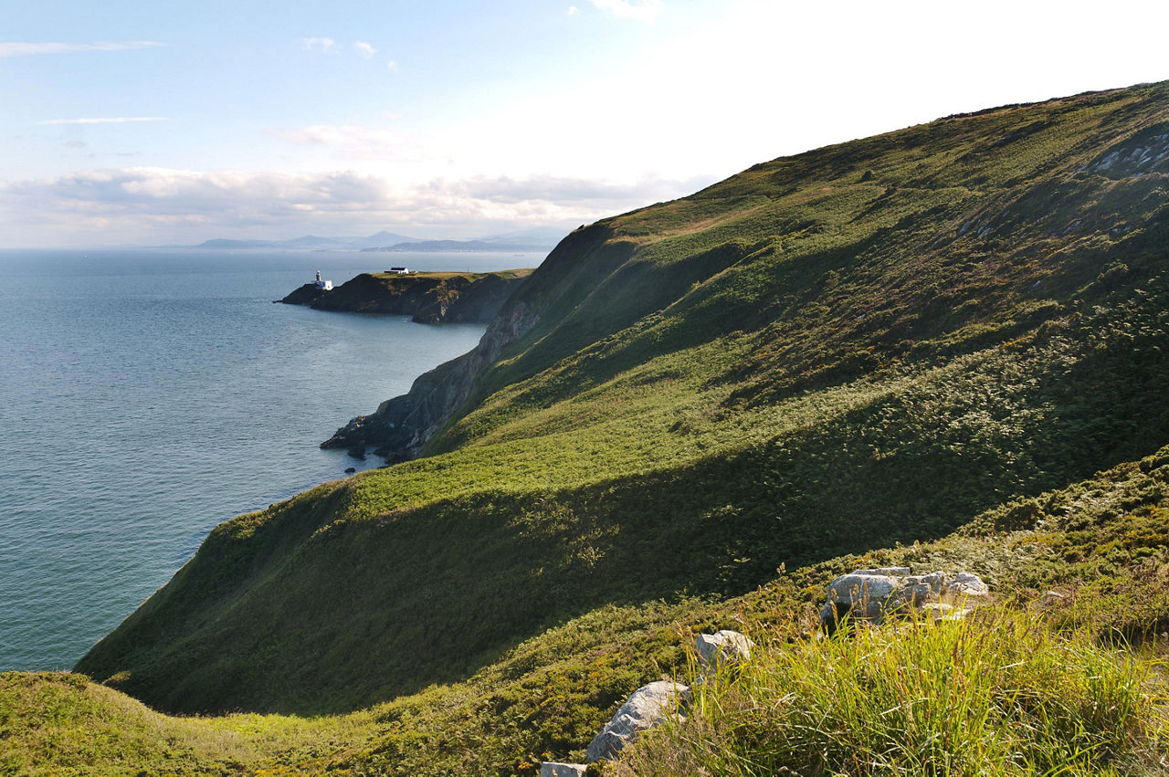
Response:
POLYGON ((389 257, 0 252, 0 671, 72 666, 216 523, 380 465, 317 445, 484 331, 271 300, 318 269, 542 259, 389 257))

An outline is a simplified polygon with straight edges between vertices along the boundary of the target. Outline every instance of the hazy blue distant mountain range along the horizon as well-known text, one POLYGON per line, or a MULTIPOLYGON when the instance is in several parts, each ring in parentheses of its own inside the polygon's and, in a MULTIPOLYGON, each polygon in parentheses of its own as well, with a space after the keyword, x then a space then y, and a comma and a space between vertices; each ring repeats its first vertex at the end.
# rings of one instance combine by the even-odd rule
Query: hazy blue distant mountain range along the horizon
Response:
POLYGON ((489 235, 470 241, 420 240, 388 231, 368 237, 319 237, 305 235, 292 240, 230 240, 216 237, 193 248, 244 250, 285 249, 296 251, 546 251, 555 247, 565 230, 537 227, 517 233, 489 235))

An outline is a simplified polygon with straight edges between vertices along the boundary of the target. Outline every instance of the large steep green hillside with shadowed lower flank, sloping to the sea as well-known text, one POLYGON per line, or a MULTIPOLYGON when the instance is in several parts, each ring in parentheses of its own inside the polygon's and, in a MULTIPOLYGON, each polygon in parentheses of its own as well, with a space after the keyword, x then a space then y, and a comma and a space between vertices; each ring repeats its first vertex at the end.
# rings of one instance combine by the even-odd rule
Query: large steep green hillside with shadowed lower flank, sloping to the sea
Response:
POLYGON ((1169 86, 952 117, 569 235, 427 456, 217 527, 78 670, 347 712, 607 605, 939 537, 1169 440, 1169 86))

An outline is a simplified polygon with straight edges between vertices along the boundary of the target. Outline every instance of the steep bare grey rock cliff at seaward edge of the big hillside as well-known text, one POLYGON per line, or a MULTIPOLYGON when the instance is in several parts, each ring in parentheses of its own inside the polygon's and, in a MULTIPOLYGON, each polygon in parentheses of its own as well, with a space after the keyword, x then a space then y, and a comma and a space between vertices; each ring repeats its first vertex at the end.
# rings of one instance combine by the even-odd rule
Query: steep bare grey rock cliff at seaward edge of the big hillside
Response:
MULTIPOLYGON (((407 394, 382 402, 371 415, 353 418, 320 446, 360 451, 373 448, 378 456, 383 456, 389 463, 415 458, 423 445, 471 396, 479 374, 490 367, 505 348, 531 332, 539 322, 540 313, 565 294, 563 278, 573 275, 566 272, 566 265, 570 268, 577 263, 584 252, 603 243, 609 234, 609 230, 601 224, 570 234, 548 255, 544 264, 506 298, 473 351, 419 376, 407 394)), ((346 285, 348 284, 344 284, 341 289, 346 285)), ((487 300, 490 296, 482 294, 478 299, 487 300)), ((483 303, 483 307, 478 307, 478 304, 480 303, 472 297, 462 304, 457 313, 482 313, 490 307, 489 303, 483 303)))

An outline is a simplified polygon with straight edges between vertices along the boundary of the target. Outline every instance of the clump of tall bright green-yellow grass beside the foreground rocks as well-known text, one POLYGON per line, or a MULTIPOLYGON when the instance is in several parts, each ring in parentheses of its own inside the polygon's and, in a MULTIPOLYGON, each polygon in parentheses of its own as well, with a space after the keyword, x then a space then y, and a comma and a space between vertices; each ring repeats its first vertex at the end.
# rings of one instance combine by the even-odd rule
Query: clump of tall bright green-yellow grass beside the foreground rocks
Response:
POLYGON ((1169 708, 1160 662, 1056 633, 1035 616, 991 610, 960 623, 845 629, 823 641, 788 637, 775 630, 750 661, 708 677, 686 720, 643 737, 614 771, 1162 771, 1169 708))

